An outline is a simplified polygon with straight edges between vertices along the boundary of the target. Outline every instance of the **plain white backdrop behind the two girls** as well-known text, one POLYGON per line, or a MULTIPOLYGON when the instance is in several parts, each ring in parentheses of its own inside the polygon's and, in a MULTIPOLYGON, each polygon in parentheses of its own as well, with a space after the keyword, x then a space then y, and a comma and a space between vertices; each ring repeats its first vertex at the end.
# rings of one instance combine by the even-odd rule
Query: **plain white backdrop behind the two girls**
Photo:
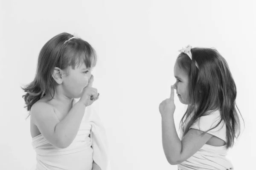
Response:
MULTIPOLYGON (((2 0, 0 3, 0 169, 35 164, 20 86, 31 82, 39 51, 61 32, 97 51, 95 102, 108 135, 112 170, 177 170, 163 153, 158 106, 175 83, 178 50, 215 47, 237 86, 243 133, 227 157, 255 167, 256 2, 218 0, 2 0)), ((186 105, 175 96, 178 127, 186 105)))

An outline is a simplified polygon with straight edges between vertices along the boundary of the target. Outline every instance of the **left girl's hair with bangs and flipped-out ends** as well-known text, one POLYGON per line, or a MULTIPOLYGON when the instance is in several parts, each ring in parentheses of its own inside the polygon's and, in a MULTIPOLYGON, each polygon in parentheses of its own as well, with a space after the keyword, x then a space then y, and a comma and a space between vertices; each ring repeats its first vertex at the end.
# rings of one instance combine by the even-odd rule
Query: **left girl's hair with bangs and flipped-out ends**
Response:
POLYGON ((96 65, 97 57, 93 47, 80 38, 69 40, 72 37, 74 37, 72 34, 66 32, 58 34, 46 42, 41 49, 35 79, 22 87, 26 92, 22 97, 25 100, 27 111, 30 112, 32 105, 45 94, 50 93, 53 98, 55 91, 52 73, 55 67, 65 70, 68 66, 71 66, 74 69, 76 65, 82 62, 85 63, 87 68, 96 65), (93 59, 95 61, 94 65, 92 65, 93 59))

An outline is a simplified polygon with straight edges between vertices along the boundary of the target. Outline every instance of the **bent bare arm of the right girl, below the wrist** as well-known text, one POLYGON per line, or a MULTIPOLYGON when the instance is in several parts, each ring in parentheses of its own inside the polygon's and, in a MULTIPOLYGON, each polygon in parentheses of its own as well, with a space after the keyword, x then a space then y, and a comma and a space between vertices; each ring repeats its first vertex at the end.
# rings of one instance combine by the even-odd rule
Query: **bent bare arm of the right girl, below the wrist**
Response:
POLYGON ((170 164, 180 164, 194 155, 212 137, 201 130, 190 129, 180 141, 174 123, 173 115, 162 119, 162 141, 166 159, 170 164))

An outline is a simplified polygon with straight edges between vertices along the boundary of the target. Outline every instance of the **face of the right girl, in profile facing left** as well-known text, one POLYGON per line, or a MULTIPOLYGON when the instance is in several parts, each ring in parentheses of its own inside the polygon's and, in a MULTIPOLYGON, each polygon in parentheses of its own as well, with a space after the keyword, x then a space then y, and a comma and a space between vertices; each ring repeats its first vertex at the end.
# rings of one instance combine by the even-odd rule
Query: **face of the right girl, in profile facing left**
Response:
POLYGON ((177 62, 174 66, 174 77, 176 78, 176 82, 174 84, 174 88, 176 89, 176 93, 180 99, 180 102, 188 105, 188 75, 179 67, 177 62))

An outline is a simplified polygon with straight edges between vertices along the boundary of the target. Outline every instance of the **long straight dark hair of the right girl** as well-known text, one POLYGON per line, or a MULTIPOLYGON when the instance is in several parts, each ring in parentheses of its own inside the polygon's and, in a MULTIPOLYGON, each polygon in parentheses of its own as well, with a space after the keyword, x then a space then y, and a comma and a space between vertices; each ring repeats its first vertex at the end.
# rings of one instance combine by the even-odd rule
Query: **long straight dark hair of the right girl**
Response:
POLYGON ((184 132, 183 136, 201 116, 211 113, 209 111, 220 110, 221 119, 215 127, 221 122, 226 124, 226 147, 233 147, 234 139, 238 138, 240 134, 240 119, 239 109, 236 105, 236 84, 227 61, 213 48, 192 48, 191 53, 192 60, 184 53, 177 57, 179 67, 189 75, 188 97, 191 104, 188 105, 180 121, 180 127, 184 132), (195 114, 189 120, 189 115, 192 112, 195 114), (188 122, 184 126, 186 121, 188 122))

